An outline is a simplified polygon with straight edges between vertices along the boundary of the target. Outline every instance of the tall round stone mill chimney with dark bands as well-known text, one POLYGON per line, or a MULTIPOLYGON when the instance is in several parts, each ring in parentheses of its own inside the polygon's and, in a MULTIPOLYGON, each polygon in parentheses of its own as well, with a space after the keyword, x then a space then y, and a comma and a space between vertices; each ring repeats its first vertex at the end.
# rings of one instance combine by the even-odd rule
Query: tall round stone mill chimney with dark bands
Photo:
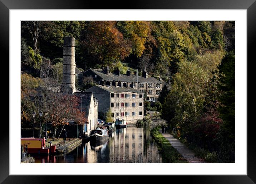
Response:
POLYGON ((74 37, 64 37, 62 90, 64 90, 65 92, 72 93, 76 91, 74 37))

